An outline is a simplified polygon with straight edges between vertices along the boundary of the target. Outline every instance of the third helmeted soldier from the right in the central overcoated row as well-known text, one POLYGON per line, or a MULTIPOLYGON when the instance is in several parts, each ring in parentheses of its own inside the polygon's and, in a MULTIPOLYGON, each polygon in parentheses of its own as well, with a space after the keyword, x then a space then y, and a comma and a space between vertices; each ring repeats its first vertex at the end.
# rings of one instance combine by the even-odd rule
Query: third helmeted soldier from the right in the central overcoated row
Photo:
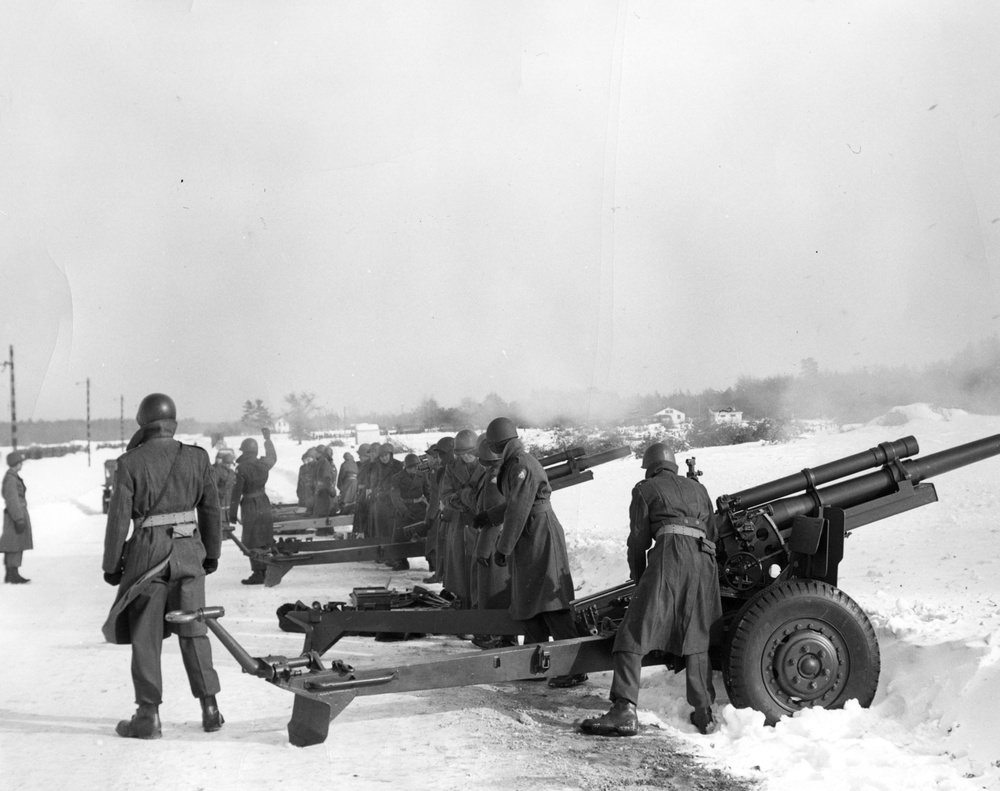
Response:
POLYGON ((441 477, 441 527, 445 553, 441 573, 444 586, 462 602, 472 606, 472 556, 476 531, 476 487, 486 471, 476 457, 476 432, 462 429, 455 435, 455 455, 441 477))

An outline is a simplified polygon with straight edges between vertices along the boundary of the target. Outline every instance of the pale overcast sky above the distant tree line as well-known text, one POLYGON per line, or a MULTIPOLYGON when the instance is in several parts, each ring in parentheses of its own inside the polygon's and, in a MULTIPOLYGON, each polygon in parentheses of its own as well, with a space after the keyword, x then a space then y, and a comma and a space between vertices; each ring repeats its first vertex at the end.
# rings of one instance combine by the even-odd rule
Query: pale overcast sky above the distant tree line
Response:
POLYGON ((1000 328, 998 40, 974 0, 4 0, 18 419, 946 359, 1000 328))

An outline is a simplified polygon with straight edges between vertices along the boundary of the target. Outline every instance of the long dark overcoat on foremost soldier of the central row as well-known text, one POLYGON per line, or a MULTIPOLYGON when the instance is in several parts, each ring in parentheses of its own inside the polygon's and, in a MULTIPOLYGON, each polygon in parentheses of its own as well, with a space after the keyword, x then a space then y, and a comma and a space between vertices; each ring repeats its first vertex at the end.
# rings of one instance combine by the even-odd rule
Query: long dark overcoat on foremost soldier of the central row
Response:
POLYGON ((545 468, 519 439, 504 447, 497 484, 507 499, 496 551, 510 566, 511 617, 524 621, 567 609, 573 576, 566 536, 549 503, 552 488, 545 468))

